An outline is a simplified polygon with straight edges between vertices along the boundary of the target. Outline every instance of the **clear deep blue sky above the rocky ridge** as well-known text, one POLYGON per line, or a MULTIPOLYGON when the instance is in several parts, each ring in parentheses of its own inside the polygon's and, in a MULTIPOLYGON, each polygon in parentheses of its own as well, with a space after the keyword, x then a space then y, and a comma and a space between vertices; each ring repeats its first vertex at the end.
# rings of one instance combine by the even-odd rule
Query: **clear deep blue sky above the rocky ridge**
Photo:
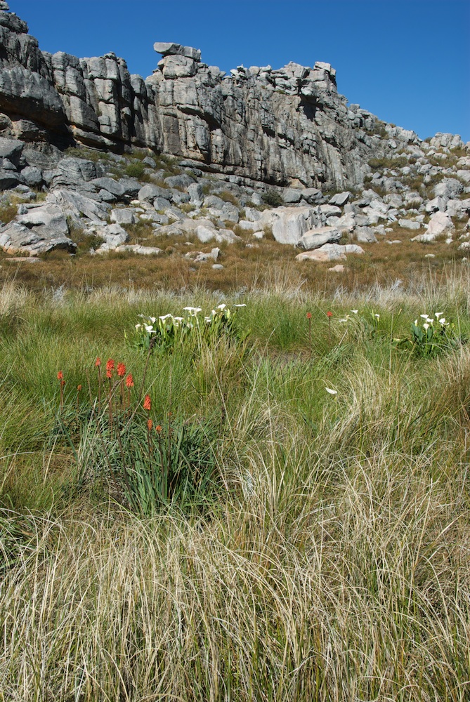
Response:
POLYGON ((9 0, 44 51, 114 51, 146 77, 155 41, 229 71, 289 61, 337 69, 338 89, 384 121, 470 140, 470 0, 9 0))

